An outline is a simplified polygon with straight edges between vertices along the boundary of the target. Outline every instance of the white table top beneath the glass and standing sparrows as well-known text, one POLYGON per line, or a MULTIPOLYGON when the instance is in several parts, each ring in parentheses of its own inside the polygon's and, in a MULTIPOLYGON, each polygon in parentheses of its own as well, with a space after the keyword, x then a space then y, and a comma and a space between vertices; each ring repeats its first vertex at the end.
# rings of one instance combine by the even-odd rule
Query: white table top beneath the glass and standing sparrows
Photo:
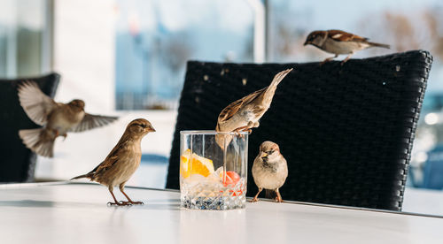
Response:
POLYGON ((180 194, 96 184, 0 185, 1 243, 443 243, 443 218, 301 203, 181 210, 180 194), (118 189, 114 193, 123 200, 118 189))

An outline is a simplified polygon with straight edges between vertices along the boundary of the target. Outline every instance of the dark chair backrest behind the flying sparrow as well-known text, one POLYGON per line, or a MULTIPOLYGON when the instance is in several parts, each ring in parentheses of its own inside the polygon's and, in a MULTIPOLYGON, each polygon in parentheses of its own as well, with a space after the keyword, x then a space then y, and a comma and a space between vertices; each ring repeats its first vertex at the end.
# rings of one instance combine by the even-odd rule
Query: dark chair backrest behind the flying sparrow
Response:
POLYGON ((60 75, 51 73, 41 77, 0 80, 0 182, 34 180, 35 153, 27 149, 19 138, 20 129, 38 127, 19 103, 17 86, 23 80, 34 80, 44 94, 53 97, 60 75))

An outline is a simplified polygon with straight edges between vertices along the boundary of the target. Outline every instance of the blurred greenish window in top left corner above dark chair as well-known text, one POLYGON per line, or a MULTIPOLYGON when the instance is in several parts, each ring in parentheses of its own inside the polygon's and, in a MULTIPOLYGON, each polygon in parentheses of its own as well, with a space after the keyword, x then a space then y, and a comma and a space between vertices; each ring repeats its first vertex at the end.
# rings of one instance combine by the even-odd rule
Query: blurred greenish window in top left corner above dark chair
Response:
POLYGON ((4 0, 0 8, 0 77, 35 76, 50 70, 49 1, 4 0))

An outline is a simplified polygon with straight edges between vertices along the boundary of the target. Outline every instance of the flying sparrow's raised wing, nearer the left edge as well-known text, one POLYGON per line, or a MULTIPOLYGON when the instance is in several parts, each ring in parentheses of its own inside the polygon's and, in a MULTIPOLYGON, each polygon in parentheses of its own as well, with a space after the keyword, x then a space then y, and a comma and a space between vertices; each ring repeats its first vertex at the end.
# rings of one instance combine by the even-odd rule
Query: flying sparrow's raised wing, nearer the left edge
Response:
POLYGON ((58 103, 45 95, 34 81, 25 81, 19 85, 19 102, 27 116, 39 126, 44 126, 48 115, 58 103))

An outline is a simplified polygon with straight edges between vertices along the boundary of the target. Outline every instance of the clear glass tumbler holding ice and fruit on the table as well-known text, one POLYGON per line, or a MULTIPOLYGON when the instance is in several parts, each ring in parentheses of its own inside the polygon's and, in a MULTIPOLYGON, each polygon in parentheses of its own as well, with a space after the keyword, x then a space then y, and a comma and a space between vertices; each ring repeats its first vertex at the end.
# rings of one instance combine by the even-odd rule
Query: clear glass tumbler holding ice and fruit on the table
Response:
POLYGON ((183 208, 245 208, 248 133, 180 132, 183 208))

